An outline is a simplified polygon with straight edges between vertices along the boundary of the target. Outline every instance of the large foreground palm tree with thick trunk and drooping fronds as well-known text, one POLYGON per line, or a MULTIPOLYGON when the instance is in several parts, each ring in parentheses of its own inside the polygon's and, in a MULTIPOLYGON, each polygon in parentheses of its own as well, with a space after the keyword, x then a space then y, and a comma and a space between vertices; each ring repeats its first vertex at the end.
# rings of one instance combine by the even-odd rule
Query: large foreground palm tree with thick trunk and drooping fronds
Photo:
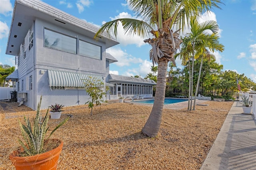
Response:
POLYGON ((149 33, 152 34, 153 38, 148 38, 144 42, 152 45, 150 59, 153 66, 158 64, 158 77, 155 102, 142 132, 154 137, 159 132, 162 120, 168 61, 175 63, 174 53, 182 42, 179 38, 179 30, 184 30, 190 16, 198 16, 212 7, 219 8, 218 4, 222 2, 220 0, 127 0, 127 2, 142 20, 119 18, 107 22, 98 30, 94 38, 105 30, 117 36, 117 27, 120 23, 128 35, 136 34, 145 38, 149 33), (177 31, 174 32, 172 29, 177 31))

